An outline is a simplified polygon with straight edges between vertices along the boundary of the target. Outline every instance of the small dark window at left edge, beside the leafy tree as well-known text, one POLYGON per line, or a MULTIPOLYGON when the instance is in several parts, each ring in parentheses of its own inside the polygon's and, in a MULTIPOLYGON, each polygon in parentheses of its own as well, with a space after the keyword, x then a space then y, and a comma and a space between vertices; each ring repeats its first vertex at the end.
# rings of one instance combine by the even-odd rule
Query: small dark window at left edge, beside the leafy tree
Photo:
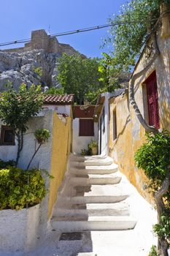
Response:
POLYGON ((15 133, 11 127, 1 126, 0 145, 15 145, 15 133))

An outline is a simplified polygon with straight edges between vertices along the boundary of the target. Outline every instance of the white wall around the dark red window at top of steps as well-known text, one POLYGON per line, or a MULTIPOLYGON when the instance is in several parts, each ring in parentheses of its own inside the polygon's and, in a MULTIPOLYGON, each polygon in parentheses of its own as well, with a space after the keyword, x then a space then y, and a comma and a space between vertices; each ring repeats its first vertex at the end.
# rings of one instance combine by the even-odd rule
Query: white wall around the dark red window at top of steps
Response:
POLYGON ((90 140, 98 140, 98 124, 94 123, 94 136, 79 136, 79 118, 74 118, 72 152, 74 154, 81 154, 82 149, 88 149, 90 140))

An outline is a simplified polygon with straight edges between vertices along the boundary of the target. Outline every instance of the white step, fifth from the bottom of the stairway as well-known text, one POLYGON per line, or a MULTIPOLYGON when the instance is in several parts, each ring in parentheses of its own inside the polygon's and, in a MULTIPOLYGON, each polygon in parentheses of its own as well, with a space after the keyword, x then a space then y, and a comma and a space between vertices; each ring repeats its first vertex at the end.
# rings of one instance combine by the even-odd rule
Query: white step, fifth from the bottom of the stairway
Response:
POLYGON ((85 166, 85 167, 70 167, 70 173, 73 174, 109 174, 116 173, 118 166, 112 163, 112 165, 96 165, 96 166, 85 166))

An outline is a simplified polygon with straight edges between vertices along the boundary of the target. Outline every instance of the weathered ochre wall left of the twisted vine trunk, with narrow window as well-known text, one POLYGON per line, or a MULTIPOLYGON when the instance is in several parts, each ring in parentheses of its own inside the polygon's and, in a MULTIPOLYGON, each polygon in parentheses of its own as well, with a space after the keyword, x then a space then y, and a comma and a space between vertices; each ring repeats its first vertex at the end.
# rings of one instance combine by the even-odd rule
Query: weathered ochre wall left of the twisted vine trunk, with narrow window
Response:
POLYGON ((144 129, 136 120, 134 113, 129 112, 128 94, 110 100, 109 104, 109 155, 119 165, 120 171, 139 192, 150 200, 145 191, 147 178, 143 170, 137 170, 134 164, 136 149, 144 143, 144 129), (113 140, 113 111, 117 115, 117 139, 113 140))

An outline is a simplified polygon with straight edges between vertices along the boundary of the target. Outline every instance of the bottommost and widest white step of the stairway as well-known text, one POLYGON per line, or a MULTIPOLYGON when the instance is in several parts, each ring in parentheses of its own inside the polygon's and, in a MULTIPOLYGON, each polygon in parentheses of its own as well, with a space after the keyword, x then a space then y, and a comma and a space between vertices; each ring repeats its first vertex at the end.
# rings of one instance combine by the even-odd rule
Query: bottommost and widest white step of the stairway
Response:
POLYGON ((132 217, 53 217, 52 227, 63 231, 82 230, 128 230, 133 229, 136 220, 132 217))

